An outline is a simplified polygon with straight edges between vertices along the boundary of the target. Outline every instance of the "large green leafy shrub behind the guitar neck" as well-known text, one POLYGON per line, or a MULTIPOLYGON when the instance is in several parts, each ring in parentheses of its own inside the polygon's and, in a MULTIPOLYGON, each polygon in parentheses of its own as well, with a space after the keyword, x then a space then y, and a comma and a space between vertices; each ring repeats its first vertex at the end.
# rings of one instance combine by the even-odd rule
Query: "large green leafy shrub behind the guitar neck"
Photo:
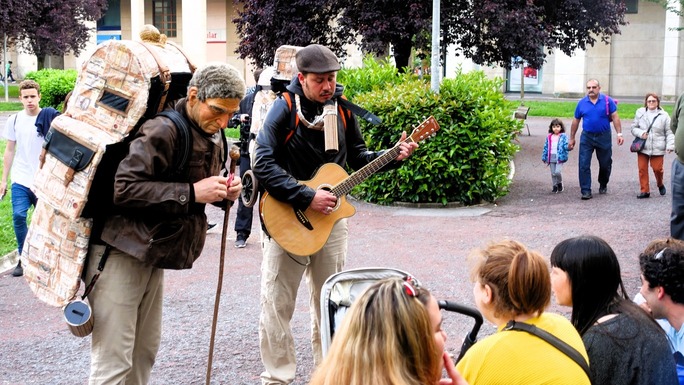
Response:
POLYGON ((495 201, 508 193, 510 160, 518 149, 512 139, 522 127, 499 91, 502 82, 459 71, 442 82, 439 94, 415 77, 358 94, 355 102, 383 119, 379 126, 359 120, 370 149, 393 146, 402 130, 410 133, 430 115, 441 128, 402 167, 371 176, 353 194, 380 204, 446 205, 495 201))

